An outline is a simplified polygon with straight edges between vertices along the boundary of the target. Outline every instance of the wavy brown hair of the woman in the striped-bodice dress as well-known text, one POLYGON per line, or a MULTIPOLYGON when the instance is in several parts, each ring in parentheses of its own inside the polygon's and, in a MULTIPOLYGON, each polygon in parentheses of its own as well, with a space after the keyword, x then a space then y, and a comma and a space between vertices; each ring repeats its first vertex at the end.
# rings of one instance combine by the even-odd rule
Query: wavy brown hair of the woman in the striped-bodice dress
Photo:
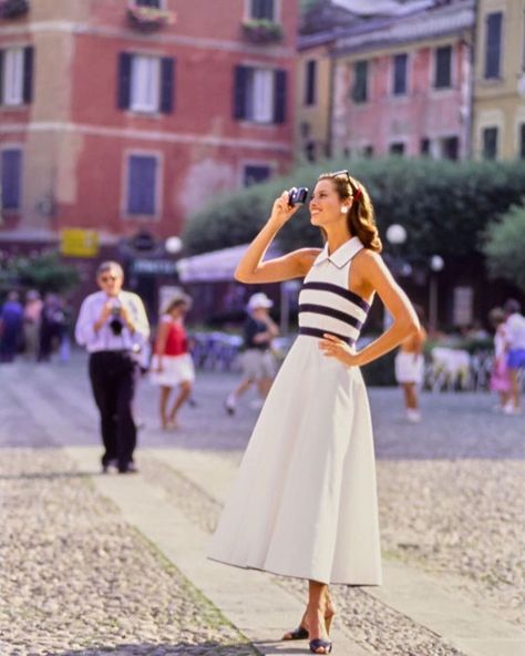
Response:
MULTIPOLYGON (((321 180, 332 181, 341 201, 353 198, 352 206, 347 215, 350 234, 359 237, 366 248, 381 253, 383 245, 379 237, 375 214, 367 187, 350 174, 347 175, 347 173, 321 173, 317 181, 321 180)), ((322 232, 325 233, 325 230, 322 232)))

